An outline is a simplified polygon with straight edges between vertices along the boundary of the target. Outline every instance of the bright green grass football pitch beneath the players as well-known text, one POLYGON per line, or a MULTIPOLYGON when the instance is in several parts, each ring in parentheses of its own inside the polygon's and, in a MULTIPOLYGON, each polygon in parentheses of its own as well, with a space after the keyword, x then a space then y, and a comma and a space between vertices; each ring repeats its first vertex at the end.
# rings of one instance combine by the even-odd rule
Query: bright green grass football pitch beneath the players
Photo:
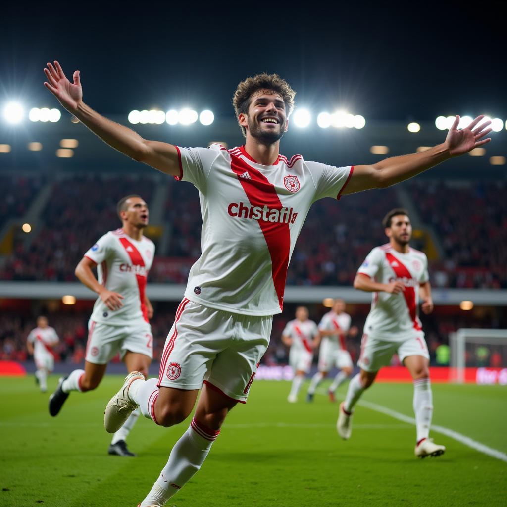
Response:
MULTIPOLYGON (((0 505, 135 507, 165 465, 190 418, 172 428, 140 417, 129 438, 136 458, 107 455, 103 410, 123 377, 95 391, 71 393, 51 418, 48 394, 33 377, 0 378, 0 505)), ((308 384, 303 386, 306 390, 308 384)), ((258 381, 235 407, 200 472, 167 505, 212 506, 480 506, 505 505, 507 462, 446 434, 439 458, 414 456, 411 384, 374 385, 354 415, 352 437, 336 432, 338 404, 304 392, 286 402, 288 382, 258 381)), ((324 386, 325 387, 325 386, 324 386)), ((338 397, 345 393, 342 385, 338 397)), ((507 387, 433 385, 433 423, 507 453, 507 387)))

